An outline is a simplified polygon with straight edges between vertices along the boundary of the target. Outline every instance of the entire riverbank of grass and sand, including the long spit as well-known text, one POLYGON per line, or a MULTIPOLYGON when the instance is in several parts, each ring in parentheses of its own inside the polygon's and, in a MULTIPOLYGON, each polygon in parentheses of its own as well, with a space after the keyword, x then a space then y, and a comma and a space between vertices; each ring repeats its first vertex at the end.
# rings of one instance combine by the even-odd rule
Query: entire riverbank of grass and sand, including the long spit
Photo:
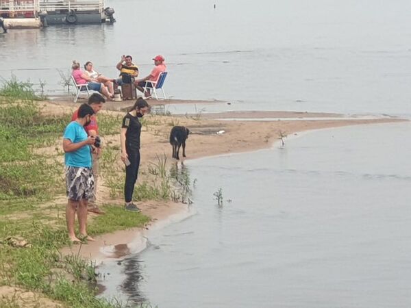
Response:
MULTIPOLYGON (((33 140, 33 147, 30 149, 24 146, 31 143, 24 134, 24 127, 21 127, 18 133, 22 133, 25 136, 23 140, 26 141, 16 144, 14 154, 18 156, 8 156, 10 154, 7 147, 2 152, 5 170, 8 172, 18 170, 18 175, 20 175, 16 177, 14 187, 19 189, 19 193, 25 193, 29 197, 33 193, 34 201, 32 206, 29 206, 27 203, 29 199, 22 196, 16 198, 16 202, 3 202, 5 207, 2 222, 7 228, 3 228, 2 238, 5 238, 7 242, 0 240, 0 246, 5 249, 4 261, 8 261, 10 257, 13 258, 10 259, 10 268, 5 268, 4 274, 10 277, 10 285, 29 283, 27 290, 14 290, 14 293, 30 294, 30 300, 33 303, 38 302, 37 296, 44 294, 50 300, 62 300, 63 303, 70 305, 81 302, 87 307, 105 303, 105 301, 110 303, 110 299, 95 297, 95 292, 84 284, 88 279, 96 282, 95 266, 97 263, 101 264, 107 260, 110 263, 114 261, 115 264, 119 258, 141 251, 150 244, 145 236, 150 238, 151 233, 147 233, 146 229, 160 229, 155 232, 161 233, 164 232, 161 230, 164 225, 183 220, 192 215, 193 211, 195 213, 196 207, 186 205, 191 203, 189 192, 195 180, 190 181, 190 170, 184 166, 185 159, 200 157, 206 159, 214 155, 258 151, 275 146, 275 141, 284 136, 301 136, 301 132, 314 129, 408 121, 397 117, 390 118, 386 114, 365 115, 360 118, 356 116, 347 118, 344 115, 327 113, 273 111, 232 112, 226 114, 225 118, 221 118, 222 114, 205 115, 202 112, 184 115, 171 115, 170 112, 147 114, 141 119, 142 148, 140 153, 142 159, 135 196, 135 201, 142 212, 141 214, 130 214, 123 209, 124 164, 119 159, 121 149, 119 131, 125 111, 114 108, 121 107, 120 105, 113 107, 110 103, 106 103, 103 110, 99 112, 103 155, 97 194, 97 203, 106 211, 106 215, 90 214, 88 216, 90 235, 98 238, 97 242, 71 245, 67 238, 64 214, 60 215, 67 202, 62 189, 62 177, 60 177, 64 166, 64 156, 61 150, 62 127, 66 127, 80 103, 53 103, 35 99, 25 101, 24 97, 23 99, 17 97, 12 101, 5 100, 2 105, 5 108, 5 114, 10 114, 8 118, 5 118, 5 131, 8 131, 8 123, 10 127, 14 124, 9 121, 16 113, 16 106, 19 112, 32 110, 32 113, 23 112, 21 116, 21 119, 27 122, 27 128, 33 128, 36 131, 40 129, 39 138, 33 140), (20 108, 21 106, 27 107, 27 110, 20 108), (277 118, 273 120, 273 117, 277 118), (40 122, 37 123, 36 120, 40 122), (39 127, 43 123, 51 125, 39 127), (186 142, 187 157, 181 161, 171 158, 171 145, 169 144, 171 128, 176 125, 186 126, 192 133, 186 142), (29 157, 25 156, 26 151, 29 157), (32 162, 30 157, 33 155, 39 157, 41 164, 32 162), (10 157, 16 157, 21 164, 8 164, 10 157), (46 173, 43 172, 44 170, 46 173), (27 185, 37 191, 27 190, 27 185), (42 198, 39 198, 40 194, 42 198), (178 203, 179 201, 181 203, 178 203), (47 242, 43 240, 43 233, 49 239, 47 242), (10 238, 9 235, 12 237, 10 238), (24 246, 27 250, 16 249, 15 245, 24 246), (53 247, 61 252, 58 258, 55 258, 56 251, 53 247), (32 253, 34 250, 38 253, 32 253), (23 272, 27 272, 24 277, 18 276, 18 273, 22 272, 22 269, 18 268, 18 262, 21 262, 18 260, 23 260, 24 264, 27 264, 27 267, 23 268, 23 272), (39 274, 36 268, 42 268, 43 265, 45 265, 45 271, 42 271, 40 276, 42 279, 51 279, 49 287, 32 279, 39 274), (77 270, 74 271, 74 268, 77 270), (53 279, 58 280, 53 281, 53 279), (60 280, 61 283, 67 283, 69 289, 65 287, 64 290, 59 289, 62 287, 60 283, 57 283, 60 280), (63 293, 60 294, 60 291, 63 293), (76 295, 80 293, 84 294, 82 298, 76 295)), ((190 101, 193 104, 197 102, 190 101)), ((185 109, 185 107, 182 108, 183 111, 185 109)), ((187 110, 189 109, 190 106, 187 107, 187 110)), ((384 130, 383 127, 379 129, 384 130)), ((12 192, 14 190, 6 196, 10 196, 12 192)), ((104 266, 101 266, 100 271, 103 270, 104 266)), ((3 288, 0 290, 0 295, 8 296, 10 293, 8 290, 8 288, 3 288)))

